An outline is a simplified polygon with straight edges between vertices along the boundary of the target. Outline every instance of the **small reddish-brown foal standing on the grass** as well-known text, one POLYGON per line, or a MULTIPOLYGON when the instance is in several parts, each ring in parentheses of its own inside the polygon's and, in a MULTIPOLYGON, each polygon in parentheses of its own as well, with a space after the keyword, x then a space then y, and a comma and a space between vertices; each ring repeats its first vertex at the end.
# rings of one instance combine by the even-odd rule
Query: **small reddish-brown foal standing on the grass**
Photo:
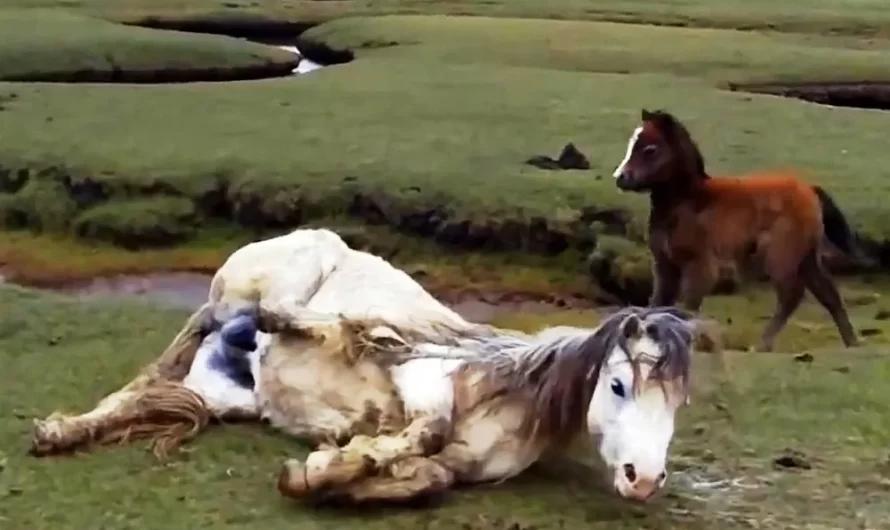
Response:
POLYGON ((711 178, 683 124, 668 112, 645 109, 613 176, 622 191, 650 195, 655 284, 650 305, 674 305, 682 294, 685 307, 699 311, 720 265, 753 254, 778 301, 761 350, 772 351, 806 289, 831 314, 844 344, 858 344, 821 260, 823 236, 838 250, 854 253, 850 227, 825 190, 793 175, 711 178))

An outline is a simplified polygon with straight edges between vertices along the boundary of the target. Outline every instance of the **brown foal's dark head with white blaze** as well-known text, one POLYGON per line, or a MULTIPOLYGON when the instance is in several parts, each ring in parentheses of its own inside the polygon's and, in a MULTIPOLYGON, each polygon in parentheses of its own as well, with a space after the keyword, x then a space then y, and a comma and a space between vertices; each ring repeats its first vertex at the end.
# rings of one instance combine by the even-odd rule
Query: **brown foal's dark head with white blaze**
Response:
POLYGON ((643 109, 641 119, 612 174, 618 188, 645 192, 708 178, 701 152, 677 118, 662 110, 643 109))

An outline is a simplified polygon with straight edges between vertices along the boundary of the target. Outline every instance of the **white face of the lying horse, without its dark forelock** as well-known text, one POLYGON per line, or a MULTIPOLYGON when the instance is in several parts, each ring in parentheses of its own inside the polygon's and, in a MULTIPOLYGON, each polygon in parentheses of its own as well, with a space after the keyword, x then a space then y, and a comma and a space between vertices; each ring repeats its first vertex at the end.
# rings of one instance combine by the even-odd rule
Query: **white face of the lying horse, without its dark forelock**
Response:
MULTIPOLYGON (((648 337, 636 347, 648 355, 660 355, 648 337)), ((640 366, 645 380, 650 367, 640 366)), ((603 367, 587 413, 592 434, 602 437, 600 456, 614 473, 614 487, 626 498, 645 500, 667 476, 667 454, 674 435, 674 416, 682 400, 666 399, 660 386, 633 394, 633 370, 623 351, 616 349, 603 367), (613 386, 621 388, 623 396, 613 386), (629 472, 631 469, 632 472, 629 472)))

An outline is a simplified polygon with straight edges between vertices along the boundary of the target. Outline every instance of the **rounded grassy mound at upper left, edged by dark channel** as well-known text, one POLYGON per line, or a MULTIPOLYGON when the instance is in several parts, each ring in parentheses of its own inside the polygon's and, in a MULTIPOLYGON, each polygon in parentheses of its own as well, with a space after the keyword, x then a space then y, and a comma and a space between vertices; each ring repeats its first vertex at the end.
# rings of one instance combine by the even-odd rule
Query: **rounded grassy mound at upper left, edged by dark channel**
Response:
POLYGON ((64 11, 3 10, 0 34, 2 81, 225 81, 289 75, 297 62, 271 46, 64 11))

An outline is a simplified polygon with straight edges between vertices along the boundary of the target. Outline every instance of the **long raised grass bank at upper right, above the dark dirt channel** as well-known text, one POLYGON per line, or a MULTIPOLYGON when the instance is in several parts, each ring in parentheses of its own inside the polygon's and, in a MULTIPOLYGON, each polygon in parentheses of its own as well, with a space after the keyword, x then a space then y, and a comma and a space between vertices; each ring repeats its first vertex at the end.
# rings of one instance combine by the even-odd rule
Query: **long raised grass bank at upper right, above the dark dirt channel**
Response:
POLYGON ((349 17, 304 37, 368 59, 663 74, 714 85, 890 80, 890 41, 879 39, 444 16, 349 17))

